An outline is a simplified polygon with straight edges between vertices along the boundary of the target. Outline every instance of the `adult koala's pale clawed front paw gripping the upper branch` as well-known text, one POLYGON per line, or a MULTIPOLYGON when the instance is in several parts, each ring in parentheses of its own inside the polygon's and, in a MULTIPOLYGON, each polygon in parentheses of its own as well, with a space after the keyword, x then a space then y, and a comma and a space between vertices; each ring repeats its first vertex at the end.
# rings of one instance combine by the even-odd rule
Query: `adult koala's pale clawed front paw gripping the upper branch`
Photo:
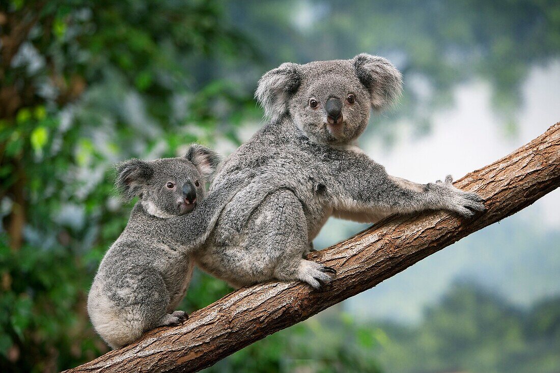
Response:
POLYGON ((435 189, 438 204, 441 208, 454 211, 460 215, 470 217, 475 212, 484 211, 483 199, 477 193, 464 192, 455 188, 452 184, 451 175, 445 177, 445 181, 437 180, 435 184, 428 184, 430 189, 435 189))

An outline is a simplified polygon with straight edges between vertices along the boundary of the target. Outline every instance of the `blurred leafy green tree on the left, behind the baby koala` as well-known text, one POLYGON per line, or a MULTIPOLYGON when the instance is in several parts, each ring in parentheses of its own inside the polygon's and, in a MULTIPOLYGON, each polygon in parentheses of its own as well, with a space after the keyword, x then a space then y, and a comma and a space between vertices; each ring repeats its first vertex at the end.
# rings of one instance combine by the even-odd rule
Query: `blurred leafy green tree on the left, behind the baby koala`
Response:
POLYGON ((106 351, 85 294, 127 222, 111 164, 237 143, 251 92, 192 71, 255 54, 217 1, 3 1, 0 27, 0 370, 58 371, 106 351))

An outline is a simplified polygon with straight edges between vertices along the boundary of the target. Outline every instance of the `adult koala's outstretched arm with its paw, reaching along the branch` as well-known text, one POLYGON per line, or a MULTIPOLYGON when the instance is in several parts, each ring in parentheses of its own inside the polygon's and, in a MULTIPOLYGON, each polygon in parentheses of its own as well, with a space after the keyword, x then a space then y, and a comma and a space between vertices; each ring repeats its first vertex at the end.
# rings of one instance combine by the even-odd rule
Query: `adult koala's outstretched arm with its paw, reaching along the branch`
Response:
MULTIPOLYGON (((426 209, 446 209, 463 216, 483 211, 484 204, 476 193, 463 192, 445 181, 418 184, 390 176, 385 168, 363 154, 349 153, 339 169, 342 184, 331 190, 334 215, 359 221, 376 221, 392 213, 426 209)), ((327 185, 329 190, 329 185, 327 185)))

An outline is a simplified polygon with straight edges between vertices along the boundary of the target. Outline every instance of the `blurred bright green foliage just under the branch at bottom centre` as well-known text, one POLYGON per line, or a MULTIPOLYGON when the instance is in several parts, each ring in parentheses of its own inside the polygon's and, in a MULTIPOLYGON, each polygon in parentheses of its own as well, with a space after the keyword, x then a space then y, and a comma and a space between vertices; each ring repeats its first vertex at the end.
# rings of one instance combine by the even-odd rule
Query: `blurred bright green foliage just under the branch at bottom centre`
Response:
POLYGON ((384 339, 382 330, 360 325, 351 315, 327 312, 269 335, 204 372, 379 373, 372 352, 384 339))

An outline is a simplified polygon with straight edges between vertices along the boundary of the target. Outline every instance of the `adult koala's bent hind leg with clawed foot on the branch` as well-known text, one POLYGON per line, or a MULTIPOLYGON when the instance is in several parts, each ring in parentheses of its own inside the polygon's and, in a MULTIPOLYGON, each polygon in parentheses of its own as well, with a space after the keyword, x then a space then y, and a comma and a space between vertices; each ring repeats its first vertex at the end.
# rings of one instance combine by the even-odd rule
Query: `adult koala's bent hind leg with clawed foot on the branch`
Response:
POLYGON ((260 237, 264 254, 272 256, 275 278, 304 281, 314 288, 332 281, 333 268, 302 258, 310 250, 307 223, 301 201, 290 190, 270 195, 261 211, 268 219, 257 224, 253 234, 260 237))

